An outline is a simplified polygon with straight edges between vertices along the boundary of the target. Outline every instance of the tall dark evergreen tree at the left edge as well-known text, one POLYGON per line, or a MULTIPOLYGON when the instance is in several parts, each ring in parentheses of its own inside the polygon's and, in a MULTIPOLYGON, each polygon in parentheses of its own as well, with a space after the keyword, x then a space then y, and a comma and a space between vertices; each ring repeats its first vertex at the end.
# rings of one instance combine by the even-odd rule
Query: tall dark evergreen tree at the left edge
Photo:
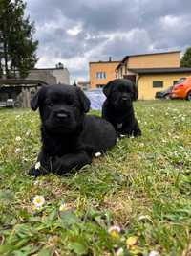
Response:
POLYGON ((37 62, 38 41, 33 40, 34 23, 24 17, 25 8, 23 0, 0 0, 0 68, 7 78, 17 73, 25 78, 37 62))

